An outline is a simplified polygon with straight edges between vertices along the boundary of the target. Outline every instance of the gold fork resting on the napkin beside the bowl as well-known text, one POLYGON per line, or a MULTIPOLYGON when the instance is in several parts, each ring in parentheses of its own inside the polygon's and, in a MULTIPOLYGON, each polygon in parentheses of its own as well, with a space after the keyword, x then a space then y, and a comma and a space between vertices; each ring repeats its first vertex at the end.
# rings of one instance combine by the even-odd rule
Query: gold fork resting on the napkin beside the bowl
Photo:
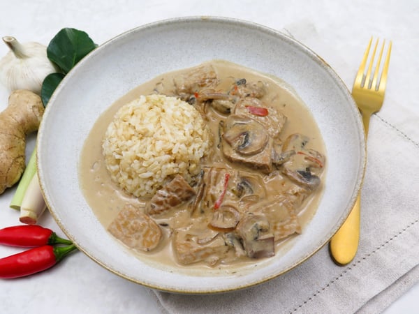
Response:
MULTIPOLYGON (((385 46, 385 40, 381 46, 378 59, 376 60, 376 66, 372 73, 374 64, 374 58, 378 47, 378 39, 372 49, 372 57, 369 61, 367 73, 365 73, 367 59, 369 51, 371 50, 372 38, 369 40, 367 50, 365 50, 362 63, 358 70, 358 74, 355 77, 353 83, 352 96, 355 99, 355 103, 358 105, 358 109, 362 115, 362 122, 365 129, 365 139, 367 139, 369 129, 369 118, 375 112, 378 112, 383 105, 385 84, 387 83, 388 64, 390 63, 390 53, 392 42, 388 45, 387 55, 385 57, 384 66, 381 69, 381 58, 383 57, 383 51, 385 46), (378 75, 381 72, 381 76, 378 79, 378 75), (373 76, 372 76, 373 75, 373 76)), ((333 260, 339 265, 346 265, 358 250, 358 242, 360 239, 360 194, 358 194, 357 200, 351 214, 344 224, 340 227, 337 233, 332 237, 330 241, 330 254, 333 260)))

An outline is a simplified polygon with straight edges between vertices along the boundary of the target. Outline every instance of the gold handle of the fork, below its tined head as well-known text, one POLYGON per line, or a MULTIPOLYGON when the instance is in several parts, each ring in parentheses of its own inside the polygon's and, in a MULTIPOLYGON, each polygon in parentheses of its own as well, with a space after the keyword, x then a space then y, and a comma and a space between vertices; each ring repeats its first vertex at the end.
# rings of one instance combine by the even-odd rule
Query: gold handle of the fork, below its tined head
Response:
MULTIPOLYGON (((369 119, 372 112, 361 112, 361 115, 362 123, 364 124, 365 140, 367 140, 369 119)), ((360 241, 360 213, 361 192, 358 192, 358 197, 356 198, 351 213, 330 240, 330 255, 332 255, 335 263, 339 265, 349 264, 358 251, 358 242, 360 241)))

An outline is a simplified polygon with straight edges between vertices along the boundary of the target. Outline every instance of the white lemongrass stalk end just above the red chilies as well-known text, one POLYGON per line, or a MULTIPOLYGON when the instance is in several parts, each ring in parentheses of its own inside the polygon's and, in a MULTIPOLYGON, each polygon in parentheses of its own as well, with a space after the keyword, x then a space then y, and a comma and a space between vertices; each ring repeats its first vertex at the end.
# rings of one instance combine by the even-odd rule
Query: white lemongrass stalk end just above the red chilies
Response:
POLYGON ((35 225, 38 223, 38 218, 41 217, 47 205, 41 193, 41 187, 39 186, 38 173, 34 174, 31 179, 26 193, 22 200, 22 206, 20 207, 20 222, 26 223, 27 225, 35 225))

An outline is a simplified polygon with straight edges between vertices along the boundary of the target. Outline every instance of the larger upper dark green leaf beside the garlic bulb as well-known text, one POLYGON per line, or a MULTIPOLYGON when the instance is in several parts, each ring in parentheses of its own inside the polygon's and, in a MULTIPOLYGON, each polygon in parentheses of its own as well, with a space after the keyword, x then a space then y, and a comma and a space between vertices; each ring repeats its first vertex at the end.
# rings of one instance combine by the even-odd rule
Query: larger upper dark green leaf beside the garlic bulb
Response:
POLYGON ((97 45, 89 35, 78 29, 61 29, 47 47, 47 57, 67 74, 86 54, 97 45))

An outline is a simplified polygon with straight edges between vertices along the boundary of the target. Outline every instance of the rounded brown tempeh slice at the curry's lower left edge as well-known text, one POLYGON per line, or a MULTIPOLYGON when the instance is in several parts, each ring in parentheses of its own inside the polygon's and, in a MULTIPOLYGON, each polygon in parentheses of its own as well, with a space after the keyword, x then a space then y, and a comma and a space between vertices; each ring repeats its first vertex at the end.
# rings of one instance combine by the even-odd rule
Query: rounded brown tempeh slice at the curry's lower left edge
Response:
POLYGON ((119 211, 108 231, 126 246, 140 251, 156 248, 162 237, 159 225, 132 205, 126 205, 119 211))

